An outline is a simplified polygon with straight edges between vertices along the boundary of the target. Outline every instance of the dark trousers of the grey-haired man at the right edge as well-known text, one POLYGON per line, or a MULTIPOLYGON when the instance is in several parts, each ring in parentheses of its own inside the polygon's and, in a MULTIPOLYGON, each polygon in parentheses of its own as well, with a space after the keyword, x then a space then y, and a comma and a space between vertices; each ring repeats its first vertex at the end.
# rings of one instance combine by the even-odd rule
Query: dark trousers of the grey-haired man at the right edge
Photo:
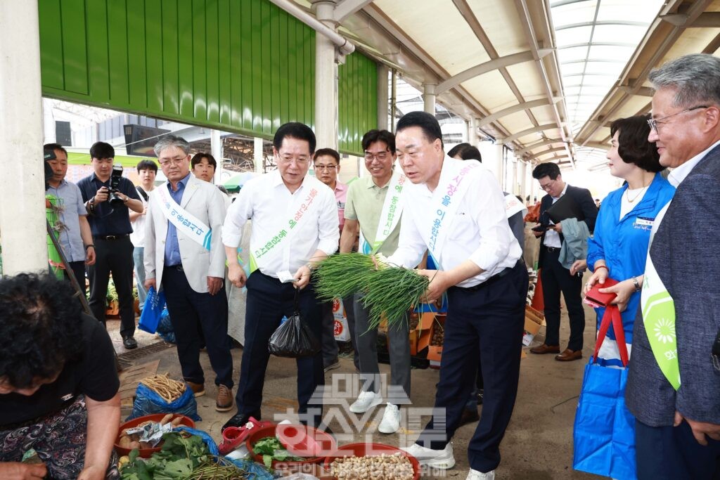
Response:
POLYGON ((650 427, 635 420, 638 480, 719 480, 720 441, 706 436, 700 445, 688 422, 650 427))

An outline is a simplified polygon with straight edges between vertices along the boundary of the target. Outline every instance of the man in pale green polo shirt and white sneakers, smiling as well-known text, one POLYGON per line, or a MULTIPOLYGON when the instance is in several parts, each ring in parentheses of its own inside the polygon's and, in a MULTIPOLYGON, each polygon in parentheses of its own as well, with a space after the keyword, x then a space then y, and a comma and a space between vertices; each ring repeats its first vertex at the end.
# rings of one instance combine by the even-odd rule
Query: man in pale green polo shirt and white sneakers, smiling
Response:
MULTIPOLYGON (((362 139, 365 168, 370 176, 350 184, 345 203, 345 225, 340 237, 340 253, 352 251, 360 232, 362 253, 382 253, 389 256, 397 248, 402 214, 402 186, 405 175, 395 163, 395 135, 387 130, 370 130, 362 139)), ((360 360, 362 391, 350 411, 364 413, 383 402, 377 364, 377 329, 368 330, 369 311, 355 296, 355 334, 360 360)), ((398 404, 410 399, 410 340, 408 321, 398 322, 387 335, 390 343, 390 386, 381 433, 395 433, 400 428, 398 404)))

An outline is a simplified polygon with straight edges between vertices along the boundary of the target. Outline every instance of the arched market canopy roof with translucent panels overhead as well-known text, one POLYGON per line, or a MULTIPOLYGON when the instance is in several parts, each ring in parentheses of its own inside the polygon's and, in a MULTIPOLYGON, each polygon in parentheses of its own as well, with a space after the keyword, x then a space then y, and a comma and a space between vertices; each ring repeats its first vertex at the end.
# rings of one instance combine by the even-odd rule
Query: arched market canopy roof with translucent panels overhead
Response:
POLYGON ((585 168, 605 161, 609 121, 649 111, 652 68, 720 47, 720 0, 340 0, 336 19, 518 157, 585 168))

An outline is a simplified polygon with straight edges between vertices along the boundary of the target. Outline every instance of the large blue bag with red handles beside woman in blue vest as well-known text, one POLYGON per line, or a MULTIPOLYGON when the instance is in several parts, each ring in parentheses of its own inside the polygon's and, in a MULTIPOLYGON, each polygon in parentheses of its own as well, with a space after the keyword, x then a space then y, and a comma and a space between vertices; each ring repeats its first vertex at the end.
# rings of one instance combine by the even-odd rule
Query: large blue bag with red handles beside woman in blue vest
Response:
POLYGON ((628 353, 620 312, 616 305, 606 307, 600 323, 595 354, 585 366, 580 401, 572 433, 572 468, 617 480, 635 480, 635 417, 625 406, 628 353), (602 366, 598 350, 610 323, 624 368, 602 366))

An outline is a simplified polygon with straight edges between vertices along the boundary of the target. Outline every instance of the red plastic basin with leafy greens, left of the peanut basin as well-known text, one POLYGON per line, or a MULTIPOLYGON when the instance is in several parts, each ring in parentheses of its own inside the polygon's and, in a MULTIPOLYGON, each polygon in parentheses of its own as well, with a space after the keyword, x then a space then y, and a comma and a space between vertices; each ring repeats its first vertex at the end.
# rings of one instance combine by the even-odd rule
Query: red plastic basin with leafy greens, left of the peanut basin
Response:
POLYGON ((298 455, 295 452, 300 452, 301 454, 310 453, 310 451, 308 450, 312 449, 312 452, 316 454, 319 453, 319 455, 307 456, 307 458, 302 461, 298 460, 281 462, 274 460, 272 462, 273 468, 286 468, 288 466, 303 465, 307 463, 322 463, 325 459, 325 456, 328 453, 336 451, 338 446, 335 438, 323 432, 322 430, 318 430, 313 427, 290 424, 271 425, 269 427, 258 428, 258 430, 253 429, 253 432, 248 436, 247 440, 245 440, 245 444, 248 447, 248 451, 250 452, 254 461, 258 463, 263 463, 263 456, 255 453, 255 451, 253 450, 253 445, 259 440, 262 440, 263 438, 277 436, 278 430, 281 433, 279 435, 280 443, 282 443, 282 445, 287 448, 290 453, 293 453, 296 456, 305 456, 298 455))

